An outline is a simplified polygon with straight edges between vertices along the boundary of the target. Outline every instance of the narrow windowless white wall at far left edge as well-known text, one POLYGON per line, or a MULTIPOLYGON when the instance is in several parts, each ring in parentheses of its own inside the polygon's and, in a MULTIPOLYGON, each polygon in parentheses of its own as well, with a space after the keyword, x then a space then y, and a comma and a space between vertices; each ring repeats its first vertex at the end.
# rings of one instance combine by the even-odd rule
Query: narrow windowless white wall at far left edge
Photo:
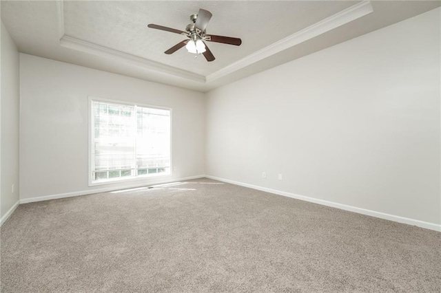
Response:
POLYGON ((0 107, 0 218, 2 224, 19 202, 19 89, 19 52, 2 21, 0 107), (14 184, 14 193, 12 193, 12 184, 14 184))

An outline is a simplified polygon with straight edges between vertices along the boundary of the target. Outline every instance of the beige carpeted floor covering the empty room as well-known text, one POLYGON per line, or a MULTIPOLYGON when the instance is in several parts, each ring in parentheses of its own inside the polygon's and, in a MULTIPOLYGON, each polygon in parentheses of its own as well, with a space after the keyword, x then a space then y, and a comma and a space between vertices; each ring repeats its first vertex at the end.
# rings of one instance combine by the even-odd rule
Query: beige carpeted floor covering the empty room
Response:
POLYGON ((440 292, 441 233, 201 179, 22 204, 1 292, 440 292))

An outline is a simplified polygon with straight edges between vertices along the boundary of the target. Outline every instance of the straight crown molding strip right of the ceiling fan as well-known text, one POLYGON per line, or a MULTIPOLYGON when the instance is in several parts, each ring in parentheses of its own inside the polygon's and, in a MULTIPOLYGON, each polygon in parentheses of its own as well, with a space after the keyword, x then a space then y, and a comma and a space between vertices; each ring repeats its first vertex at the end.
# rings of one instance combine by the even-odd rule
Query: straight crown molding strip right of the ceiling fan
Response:
POLYGON ((373 8, 370 1, 362 1, 360 3, 357 3, 354 6, 337 12, 327 19, 323 19, 318 23, 314 23, 313 25, 310 25, 303 30, 291 34, 285 39, 281 39, 276 43, 272 43, 271 45, 264 47, 261 50, 249 54, 245 58, 242 58, 239 61, 236 61, 235 63, 232 63, 231 65, 228 65, 223 69, 218 70, 217 72, 209 74, 206 77, 207 83, 223 76, 227 76, 228 74, 252 65, 253 63, 263 60, 264 58, 277 54, 278 52, 282 52, 289 47, 294 47, 295 45, 308 41, 309 39, 319 36, 320 34, 324 34, 325 32, 329 32, 330 30, 334 30, 334 28, 338 28, 341 25, 345 25, 351 21, 359 19, 360 17, 364 17, 371 12, 373 12, 373 8))

